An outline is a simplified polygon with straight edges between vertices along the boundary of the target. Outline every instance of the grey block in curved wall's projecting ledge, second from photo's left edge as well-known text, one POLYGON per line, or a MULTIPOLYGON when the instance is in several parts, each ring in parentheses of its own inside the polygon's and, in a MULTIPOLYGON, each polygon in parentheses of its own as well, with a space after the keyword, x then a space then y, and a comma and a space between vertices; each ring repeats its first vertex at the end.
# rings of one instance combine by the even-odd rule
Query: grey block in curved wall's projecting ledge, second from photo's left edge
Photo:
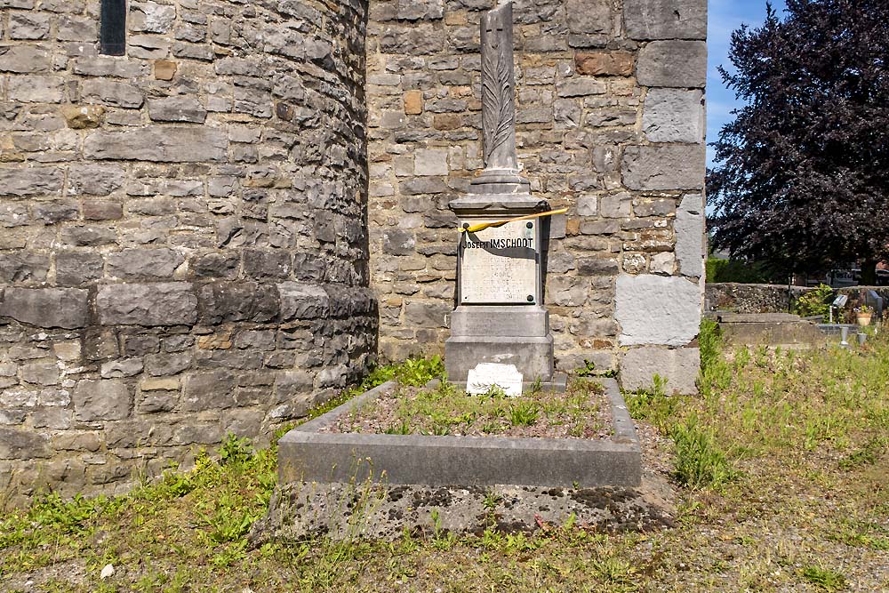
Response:
POLYGON ((186 282, 108 284, 96 297, 101 325, 194 325, 197 297, 186 282))

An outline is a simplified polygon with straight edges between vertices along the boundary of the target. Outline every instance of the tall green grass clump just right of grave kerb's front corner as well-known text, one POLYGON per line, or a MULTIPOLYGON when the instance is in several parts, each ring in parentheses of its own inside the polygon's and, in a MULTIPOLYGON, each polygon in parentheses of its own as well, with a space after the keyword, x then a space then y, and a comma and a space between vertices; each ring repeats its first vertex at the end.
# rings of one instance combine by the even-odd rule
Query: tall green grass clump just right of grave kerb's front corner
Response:
POLYGON ((690 488, 722 485, 735 476, 713 432, 701 427, 696 414, 670 431, 676 444, 675 476, 690 488))

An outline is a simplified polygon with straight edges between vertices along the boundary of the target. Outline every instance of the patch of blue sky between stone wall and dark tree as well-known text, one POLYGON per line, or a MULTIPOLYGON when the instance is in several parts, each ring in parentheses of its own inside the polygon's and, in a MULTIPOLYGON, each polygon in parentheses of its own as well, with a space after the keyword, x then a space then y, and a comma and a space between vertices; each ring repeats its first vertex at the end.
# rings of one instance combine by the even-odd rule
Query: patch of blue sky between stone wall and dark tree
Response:
MULTIPOLYGON (((772 5, 781 15, 784 0, 773 0, 772 5)), ((765 0, 709 0, 708 11, 707 141, 712 142, 717 139, 723 124, 733 119, 732 109, 741 104, 734 98, 734 92, 725 88, 717 67, 731 67, 728 48, 735 29, 742 23, 758 27, 765 20, 765 0)), ((707 156, 709 166, 713 148, 707 148, 707 156)))

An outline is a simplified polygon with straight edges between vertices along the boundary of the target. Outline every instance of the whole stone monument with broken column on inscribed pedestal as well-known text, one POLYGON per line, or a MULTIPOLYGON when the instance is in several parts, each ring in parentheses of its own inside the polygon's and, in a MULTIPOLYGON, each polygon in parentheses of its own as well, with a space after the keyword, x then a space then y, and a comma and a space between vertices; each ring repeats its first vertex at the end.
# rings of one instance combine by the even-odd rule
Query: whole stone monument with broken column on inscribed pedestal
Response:
POLYGON ((553 380, 541 267, 546 219, 504 222, 549 211, 531 195, 516 153, 512 4, 486 13, 481 28, 485 170, 449 204, 461 228, 445 365, 451 381, 467 381, 479 363, 500 363, 546 383, 553 380))

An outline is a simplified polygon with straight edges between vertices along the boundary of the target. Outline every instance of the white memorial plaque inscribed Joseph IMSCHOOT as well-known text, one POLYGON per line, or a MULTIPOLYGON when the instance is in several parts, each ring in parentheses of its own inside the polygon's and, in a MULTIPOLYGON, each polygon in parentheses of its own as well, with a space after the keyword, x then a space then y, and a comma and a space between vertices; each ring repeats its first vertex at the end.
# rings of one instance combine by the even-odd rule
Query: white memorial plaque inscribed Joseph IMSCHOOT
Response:
MULTIPOLYGON (((490 221, 472 220, 470 224, 490 221)), ((461 233, 461 304, 535 303, 536 224, 520 220, 475 233, 461 233)))

